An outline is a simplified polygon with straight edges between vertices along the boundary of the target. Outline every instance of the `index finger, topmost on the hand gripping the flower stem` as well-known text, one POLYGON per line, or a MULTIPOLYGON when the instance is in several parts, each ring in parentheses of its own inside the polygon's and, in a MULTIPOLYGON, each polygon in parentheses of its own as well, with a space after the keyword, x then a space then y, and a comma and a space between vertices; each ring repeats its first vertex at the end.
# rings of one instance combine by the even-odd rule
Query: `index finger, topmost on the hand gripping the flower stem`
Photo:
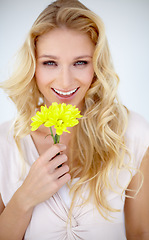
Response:
POLYGON ((63 152, 66 149, 64 144, 54 144, 45 153, 40 156, 41 161, 49 161, 54 158, 58 153, 63 152))

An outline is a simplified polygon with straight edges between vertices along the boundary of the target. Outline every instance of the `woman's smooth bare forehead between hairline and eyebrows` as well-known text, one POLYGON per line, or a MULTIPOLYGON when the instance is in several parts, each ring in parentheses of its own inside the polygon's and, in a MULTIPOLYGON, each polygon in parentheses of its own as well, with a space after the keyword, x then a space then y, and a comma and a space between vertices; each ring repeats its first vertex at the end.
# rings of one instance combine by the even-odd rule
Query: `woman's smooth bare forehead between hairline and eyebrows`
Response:
POLYGON ((94 44, 87 33, 66 28, 53 29, 41 35, 37 41, 38 55, 58 55, 67 52, 73 55, 90 55, 93 50, 94 44))

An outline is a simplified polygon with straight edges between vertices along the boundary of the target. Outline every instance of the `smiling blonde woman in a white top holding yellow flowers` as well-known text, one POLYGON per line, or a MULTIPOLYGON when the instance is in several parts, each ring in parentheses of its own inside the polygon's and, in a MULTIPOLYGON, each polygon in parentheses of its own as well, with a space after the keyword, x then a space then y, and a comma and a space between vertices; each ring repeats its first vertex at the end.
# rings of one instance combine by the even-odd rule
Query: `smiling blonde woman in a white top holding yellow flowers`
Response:
POLYGON ((18 115, 0 128, 0 239, 149 239, 149 126, 118 82, 101 19, 77 0, 50 4, 1 86, 18 115), (30 127, 53 102, 83 114, 55 145, 30 127))

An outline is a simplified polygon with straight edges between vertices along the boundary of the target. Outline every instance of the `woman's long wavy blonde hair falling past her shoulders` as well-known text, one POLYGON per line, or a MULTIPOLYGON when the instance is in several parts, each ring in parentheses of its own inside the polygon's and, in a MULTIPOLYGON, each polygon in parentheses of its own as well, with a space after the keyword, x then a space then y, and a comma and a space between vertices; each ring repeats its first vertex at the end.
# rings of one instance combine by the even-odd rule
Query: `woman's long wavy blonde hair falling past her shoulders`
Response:
POLYGON ((72 180, 80 176, 80 180, 71 188, 74 193, 72 205, 76 195, 81 193, 81 186, 88 182, 90 193, 86 201, 94 196, 97 209, 104 215, 103 211, 116 211, 108 205, 103 190, 112 189, 110 172, 116 169, 118 177, 120 169, 125 166, 127 149, 124 133, 128 113, 117 97, 119 78, 112 65, 104 24, 100 17, 77 0, 58 0, 50 4, 33 24, 19 52, 18 68, 1 87, 18 110, 14 137, 19 144, 20 139, 30 133, 31 117, 44 103, 34 76, 36 43, 42 34, 63 26, 88 34, 95 44, 95 74, 85 96, 84 118, 76 127, 76 134, 71 141, 72 180))

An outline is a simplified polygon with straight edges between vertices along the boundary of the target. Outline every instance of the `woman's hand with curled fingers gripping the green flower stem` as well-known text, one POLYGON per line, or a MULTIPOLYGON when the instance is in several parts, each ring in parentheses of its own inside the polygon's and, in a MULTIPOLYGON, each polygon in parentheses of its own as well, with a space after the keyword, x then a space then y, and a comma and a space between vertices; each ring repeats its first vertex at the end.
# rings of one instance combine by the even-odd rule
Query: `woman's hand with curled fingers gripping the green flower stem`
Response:
POLYGON ((70 180, 67 156, 62 153, 65 149, 63 144, 54 144, 33 163, 19 189, 26 209, 49 199, 70 180), (60 152, 61 154, 57 155, 60 152), (61 164, 62 166, 58 167, 61 164))

